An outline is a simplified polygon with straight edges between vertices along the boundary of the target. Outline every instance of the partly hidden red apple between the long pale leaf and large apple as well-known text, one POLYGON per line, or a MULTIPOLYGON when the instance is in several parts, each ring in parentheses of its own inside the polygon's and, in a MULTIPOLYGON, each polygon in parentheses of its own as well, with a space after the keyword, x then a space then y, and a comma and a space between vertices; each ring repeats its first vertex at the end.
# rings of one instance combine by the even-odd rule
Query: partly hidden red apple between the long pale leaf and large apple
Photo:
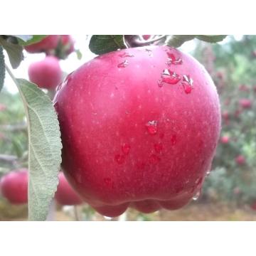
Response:
POLYGON ((82 199, 73 190, 73 188, 68 183, 64 174, 60 172, 58 175, 59 184, 57 191, 55 193, 55 199, 61 206, 76 206, 82 203, 82 199))

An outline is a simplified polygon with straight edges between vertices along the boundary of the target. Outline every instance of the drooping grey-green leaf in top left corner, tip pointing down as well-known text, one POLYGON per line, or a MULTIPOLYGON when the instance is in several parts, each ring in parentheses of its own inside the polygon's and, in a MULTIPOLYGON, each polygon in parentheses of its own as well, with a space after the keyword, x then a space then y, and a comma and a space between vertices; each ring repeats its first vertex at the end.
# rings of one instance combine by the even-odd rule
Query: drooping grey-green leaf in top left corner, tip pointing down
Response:
POLYGON ((12 68, 18 68, 23 60, 22 46, 18 45, 18 43, 14 43, 9 38, 3 38, 0 36, 0 45, 6 50, 12 68))

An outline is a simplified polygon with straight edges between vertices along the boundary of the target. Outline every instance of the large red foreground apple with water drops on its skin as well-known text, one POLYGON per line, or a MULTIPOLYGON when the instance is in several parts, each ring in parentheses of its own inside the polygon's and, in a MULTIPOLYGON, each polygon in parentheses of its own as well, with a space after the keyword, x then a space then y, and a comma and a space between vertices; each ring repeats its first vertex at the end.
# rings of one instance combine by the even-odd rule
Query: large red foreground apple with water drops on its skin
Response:
POLYGON ((100 55, 68 75, 53 103, 64 174, 102 215, 129 206, 175 210, 201 189, 220 135, 220 103, 190 55, 168 46, 100 55), (168 65, 172 54, 182 63, 168 65), (190 75, 193 90, 182 79, 159 84, 166 68, 190 75))

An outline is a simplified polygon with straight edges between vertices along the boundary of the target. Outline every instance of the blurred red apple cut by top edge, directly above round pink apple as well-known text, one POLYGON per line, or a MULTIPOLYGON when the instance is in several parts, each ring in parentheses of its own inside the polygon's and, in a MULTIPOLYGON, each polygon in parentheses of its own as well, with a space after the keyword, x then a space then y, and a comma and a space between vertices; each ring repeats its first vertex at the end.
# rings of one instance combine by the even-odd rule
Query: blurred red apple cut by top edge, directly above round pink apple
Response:
POLYGON ((50 35, 43 38, 40 42, 33 43, 29 46, 25 46, 24 48, 28 53, 46 53, 48 50, 55 49, 58 46, 59 40, 59 35, 50 35))

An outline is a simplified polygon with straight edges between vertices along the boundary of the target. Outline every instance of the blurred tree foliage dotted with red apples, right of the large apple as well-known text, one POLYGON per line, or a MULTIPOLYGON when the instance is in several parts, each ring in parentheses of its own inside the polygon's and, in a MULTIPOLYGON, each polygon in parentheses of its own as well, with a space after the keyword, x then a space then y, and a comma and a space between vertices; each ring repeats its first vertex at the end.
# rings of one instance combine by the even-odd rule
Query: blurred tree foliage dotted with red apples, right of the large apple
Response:
POLYGON ((233 201, 256 200, 256 38, 232 36, 224 45, 198 43, 195 55, 215 80, 222 109, 222 132, 213 171, 203 188, 203 198, 233 201), (251 106, 242 107, 241 100, 251 106), (225 139, 228 139, 228 142, 225 139), (236 160, 238 156, 244 162, 236 160))

